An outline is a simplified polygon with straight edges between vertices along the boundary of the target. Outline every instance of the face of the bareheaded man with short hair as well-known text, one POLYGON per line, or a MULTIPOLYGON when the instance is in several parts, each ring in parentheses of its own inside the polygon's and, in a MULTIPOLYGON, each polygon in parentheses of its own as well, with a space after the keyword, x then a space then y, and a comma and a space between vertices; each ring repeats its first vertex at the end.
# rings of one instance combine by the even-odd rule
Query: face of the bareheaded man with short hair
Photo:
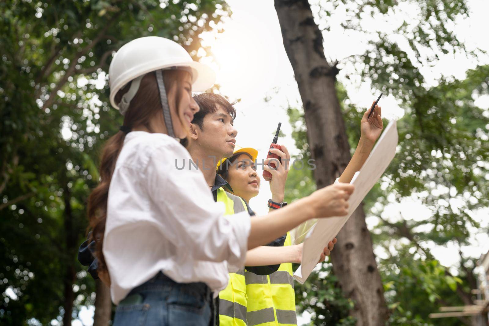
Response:
POLYGON ((233 126, 233 118, 225 109, 217 104, 214 113, 207 114, 202 121, 202 129, 194 125, 197 132, 197 143, 208 156, 216 156, 216 160, 230 157, 236 146, 235 137, 238 131, 233 126))

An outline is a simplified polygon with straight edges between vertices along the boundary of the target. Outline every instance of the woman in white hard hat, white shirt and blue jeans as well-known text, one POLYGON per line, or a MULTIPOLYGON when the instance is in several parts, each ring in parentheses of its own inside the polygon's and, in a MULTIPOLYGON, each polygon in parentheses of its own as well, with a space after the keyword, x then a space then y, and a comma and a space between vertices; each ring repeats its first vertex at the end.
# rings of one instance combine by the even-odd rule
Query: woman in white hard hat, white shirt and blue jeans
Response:
POLYGON ((267 217, 224 217, 204 177, 179 170, 199 110, 192 91, 214 73, 178 44, 144 37, 122 46, 109 68, 111 105, 124 123, 106 144, 88 215, 99 273, 118 304, 113 325, 209 325, 212 293, 244 265, 247 249, 309 218, 347 214, 350 185, 323 188, 267 217))

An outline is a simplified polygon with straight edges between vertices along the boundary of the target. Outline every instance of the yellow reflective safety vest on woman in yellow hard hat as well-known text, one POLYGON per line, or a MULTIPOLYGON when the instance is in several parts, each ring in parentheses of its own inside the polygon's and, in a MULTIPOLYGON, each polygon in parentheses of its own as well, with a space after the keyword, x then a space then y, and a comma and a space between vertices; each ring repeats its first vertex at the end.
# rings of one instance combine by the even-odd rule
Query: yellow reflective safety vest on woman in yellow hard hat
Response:
MULTIPOLYGON (((289 245, 291 240, 287 233, 284 246, 289 245)), ((292 264, 289 262, 280 264, 276 272, 266 276, 244 272, 248 326, 297 325, 292 274, 292 264)))

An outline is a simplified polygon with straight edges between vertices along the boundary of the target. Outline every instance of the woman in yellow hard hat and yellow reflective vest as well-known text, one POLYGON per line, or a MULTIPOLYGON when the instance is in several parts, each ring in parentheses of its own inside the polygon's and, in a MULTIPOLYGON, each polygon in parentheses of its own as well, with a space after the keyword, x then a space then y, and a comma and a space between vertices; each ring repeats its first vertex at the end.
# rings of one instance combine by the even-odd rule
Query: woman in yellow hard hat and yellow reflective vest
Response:
MULTIPOLYGON (((287 147, 281 145, 282 151, 273 149, 282 158, 272 173, 270 191, 272 198, 268 201, 270 209, 283 207, 285 182, 289 173, 290 155, 287 147)), ((233 155, 218 163, 217 173, 231 186, 233 194, 242 197, 246 203, 258 195, 260 177, 256 173, 256 157, 258 151, 247 147, 235 150, 233 155)), ((267 164, 265 160, 264 164, 267 164)), ((264 165, 264 167, 267 167, 264 165)), ((319 261, 324 261, 333 250, 336 239, 323 249, 319 261)), ((246 284, 246 319, 248 325, 276 326, 297 325, 295 313, 295 292, 292 277, 292 262, 299 263, 302 259, 302 243, 292 245, 289 232, 285 238, 284 247, 259 247, 248 251, 245 265, 280 264, 278 270, 269 273, 258 273, 256 267, 247 268, 244 272, 246 284), (249 270, 248 270, 249 269, 249 270)))

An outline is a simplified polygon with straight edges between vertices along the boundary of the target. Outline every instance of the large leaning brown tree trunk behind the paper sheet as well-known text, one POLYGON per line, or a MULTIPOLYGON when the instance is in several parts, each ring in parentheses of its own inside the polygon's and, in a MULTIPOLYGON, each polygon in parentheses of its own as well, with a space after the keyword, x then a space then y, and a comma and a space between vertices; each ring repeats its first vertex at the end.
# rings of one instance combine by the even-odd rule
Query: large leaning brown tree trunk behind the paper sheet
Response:
MULTIPOLYGON (((334 182, 351 158, 336 96, 338 69, 326 60, 323 37, 307 0, 275 0, 275 9, 304 106, 311 157, 317 166, 314 179, 322 188, 334 182)), ((339 245, 332 252, 333 271, 342 290, 355 301, 352 315, 357 325, 384 325, 388 309, 362 205, 337 238, 339 245)))

